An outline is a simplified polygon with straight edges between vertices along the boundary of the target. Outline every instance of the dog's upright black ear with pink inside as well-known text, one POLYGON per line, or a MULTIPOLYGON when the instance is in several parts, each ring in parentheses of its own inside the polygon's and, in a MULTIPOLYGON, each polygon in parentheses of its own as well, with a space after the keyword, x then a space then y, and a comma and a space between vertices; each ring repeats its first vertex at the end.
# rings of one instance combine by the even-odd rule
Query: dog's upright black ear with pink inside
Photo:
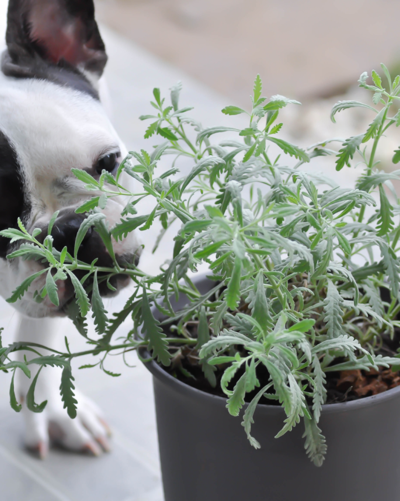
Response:
POLYGON ((6 75, 42 78, 47 65, 99 78, 107 61, 93 0, 10 0, 6 42, 6 75))

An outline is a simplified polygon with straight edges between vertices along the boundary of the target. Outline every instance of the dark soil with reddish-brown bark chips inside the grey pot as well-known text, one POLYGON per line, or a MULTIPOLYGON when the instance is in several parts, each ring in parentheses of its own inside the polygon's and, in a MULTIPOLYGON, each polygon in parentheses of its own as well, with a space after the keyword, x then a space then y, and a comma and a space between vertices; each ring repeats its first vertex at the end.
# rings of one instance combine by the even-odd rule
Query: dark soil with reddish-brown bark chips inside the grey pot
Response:
MULTIPOLYGON (((191 328, 188 326, 188 330, 196 330, 196 325, 195 323, 193 324, 194 325, 191 326, 191 328)), ((171 335, 168 325, 164 326, 164 332, 167 335, 171 335)), ((192 332, 192 334, 193 337, 195 337, 196 333, 192 332)), ((381 354, 382 356, 394 356, 397 354, 397 349, 399 347, 400 331, 396 331, 392 340, 388 336, 383 336, 383 344, 378 351, 378 354, 381 354)), ((226 395, 221 390, 220 380, 227 365, 216 366, 216 371, 214 373, 216 377, 216 386, 215 388, 212 388, 207 379, 204 377, 201 366, 198 364, 198 360, 197 350, 184 346, 174 355, 171 366, 162 368, 193 388, 226 398, 226 395)), ((340 362, 340 360, 337 360, 337 362, 340 362)), ((243 374, 243 371, 244 369, 237 371, 228 386, 229 389, 233 389, 237 380, 243 374)), ((268 384, 269 373, 262 364, 257 366, 257 377, 261 388, 268 384)), ((400 371, 392 372, 391 369, 385 369, 383 367, 380 367, 379 371, 371 369, 369 372, 363 370, 327 372, 325 385, 327 391, 326 403, 330 404, 356 400, 382 393, 383 391, 394 388, 398 385, 400 385, 400 371)), ((254 391, 246 393, 245 401, 250 402, 258 391, 259 388, 255 388, 254 391)), ((272 397, 273 389, 271 388, 269 391, 271 392, 272 397)), ((261 400, 260 403, 280 405, 279 402, 273 398, 263 401, 261 400)))

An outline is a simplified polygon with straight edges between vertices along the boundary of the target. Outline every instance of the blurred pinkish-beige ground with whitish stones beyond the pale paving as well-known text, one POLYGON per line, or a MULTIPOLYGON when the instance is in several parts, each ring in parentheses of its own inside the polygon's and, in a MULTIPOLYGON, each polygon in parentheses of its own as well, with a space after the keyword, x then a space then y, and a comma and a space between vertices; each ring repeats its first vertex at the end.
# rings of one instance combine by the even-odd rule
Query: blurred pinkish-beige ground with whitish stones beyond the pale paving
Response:
MULTIPOLYGON (((370 102, 359 75, 383 62, 400 72, 400 4, 391 0, 95 0, 97 19, 127 40, 224 98, 248 106, 257 73, 263 95, 303 106, 283 110, 283 134, 302 146, 348 137, 370 112, 352 109, 329 120, 337 100, 370 102)), ((126 62, 126 64, 129 64, 126 62)), ((133 70, 140 72, 140 68, 133 70)), ((154 85, 157 85, 154 82, 154 85)), ((134 82, 132 82, 134 89, 134 82)), ((397 130, 382 141, 381 167, 391 170, 397 130)))

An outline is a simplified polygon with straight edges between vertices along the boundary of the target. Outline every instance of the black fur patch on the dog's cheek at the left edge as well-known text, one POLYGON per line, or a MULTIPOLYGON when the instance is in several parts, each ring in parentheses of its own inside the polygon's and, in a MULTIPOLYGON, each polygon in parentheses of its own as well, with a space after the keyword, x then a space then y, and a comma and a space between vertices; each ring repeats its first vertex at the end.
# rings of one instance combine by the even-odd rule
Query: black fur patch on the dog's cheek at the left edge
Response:
MULTIPOLYGON (((15 150, 0 131, 0 230, 17 228, 17 219, 23 219, 28 205, 15 150)), ((6 257, 9 241, 9 238, 0 236, 0 258, 6 257)))

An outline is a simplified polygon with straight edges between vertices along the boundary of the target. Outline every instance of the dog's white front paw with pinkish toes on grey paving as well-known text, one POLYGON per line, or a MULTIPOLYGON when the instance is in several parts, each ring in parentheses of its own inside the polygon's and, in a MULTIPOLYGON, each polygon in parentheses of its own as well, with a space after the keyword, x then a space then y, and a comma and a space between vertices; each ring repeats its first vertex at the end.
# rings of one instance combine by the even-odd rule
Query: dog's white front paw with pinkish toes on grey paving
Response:
POLYGON ((22 405, 25 445, 44 458, 50 445, 98 456, 109 451, 110 429, 94 402, 76 392, 77 412, 71 419, 58 399, 49 399, 43 412, 22 405))

